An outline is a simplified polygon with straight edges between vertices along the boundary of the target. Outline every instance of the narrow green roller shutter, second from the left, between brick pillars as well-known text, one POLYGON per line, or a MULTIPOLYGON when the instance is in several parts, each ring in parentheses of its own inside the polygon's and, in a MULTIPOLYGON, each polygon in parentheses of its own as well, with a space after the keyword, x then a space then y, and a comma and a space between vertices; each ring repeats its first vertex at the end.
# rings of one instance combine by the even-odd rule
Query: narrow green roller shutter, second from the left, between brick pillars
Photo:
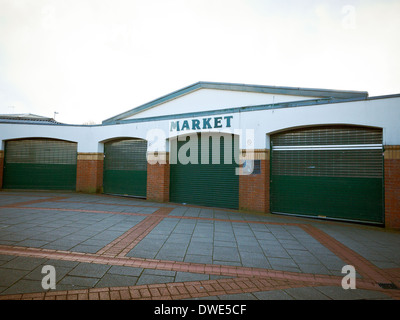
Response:
POLYGON ((105 143, 103 191, 146 197, 147 141, 125 139, 105 143))

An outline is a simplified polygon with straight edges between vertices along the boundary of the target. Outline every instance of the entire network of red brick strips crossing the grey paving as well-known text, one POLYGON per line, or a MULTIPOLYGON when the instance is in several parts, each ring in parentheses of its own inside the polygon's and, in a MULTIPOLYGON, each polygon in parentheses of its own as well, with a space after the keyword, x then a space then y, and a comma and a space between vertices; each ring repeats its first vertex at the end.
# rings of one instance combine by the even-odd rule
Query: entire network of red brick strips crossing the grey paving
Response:
POLYGON ((132 227, 130 230, 125 232, 123 235, 109 243, 107 246, 99 250, 96 254, 7 245, 0 245, 0 254, 107 265, 120 265, 145 269, 147 268, 168 271, 204 273, 210 275, 230 276, 235 278, 196 282, 152 284, 130 287, 91 288, 84 290, 49 291, 45 293, 0 295, 0 299, 184 299, 222 294, 281 290, 294 287, 341 286, 342 277, 338 276, 305 274, 262 268, 236 267, 126 257, 126 254, 165 218, 298 226, 306 231, 310 236, 318 240, 321 244, 326 246, 342 260, 353 265, 356 268, 357 272, 359 272, 363 276, 363 279, 357 279, 358 289, 381 291, 385 294, 388 294, 392 298, 400 299, 400 290, 382 289, 379 286, 379 283, 391 283, 391 280, 395 281, 395 283, 399 286, 400 270, 381 270, 370 263, 368 260, 363 258, 361 255, 344 246, 342 243, 332 238, 325 232, 308 224, 214 219, 205 217, 168 216, 168 214, 174 208, 167 207, 160 208, 152 214, 83 209, 26 207, 29 204, 49 201, 55 202, 65 199, 67 198, 52 197, 40 200, 19 202, 12 205, 4 205, 2 207, 141 215, 146 216, 146 218, 134 227, 132 227))

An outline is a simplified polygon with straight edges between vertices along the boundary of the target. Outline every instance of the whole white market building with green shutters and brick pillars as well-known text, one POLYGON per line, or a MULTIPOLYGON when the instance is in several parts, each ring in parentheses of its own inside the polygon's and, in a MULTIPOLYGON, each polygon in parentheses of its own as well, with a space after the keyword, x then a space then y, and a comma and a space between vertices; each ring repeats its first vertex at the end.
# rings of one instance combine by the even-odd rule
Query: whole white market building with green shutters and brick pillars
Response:
POLYGON ((400 94, 198 82, 103 121, 0 116, 0 186, 400 229, 400 94))

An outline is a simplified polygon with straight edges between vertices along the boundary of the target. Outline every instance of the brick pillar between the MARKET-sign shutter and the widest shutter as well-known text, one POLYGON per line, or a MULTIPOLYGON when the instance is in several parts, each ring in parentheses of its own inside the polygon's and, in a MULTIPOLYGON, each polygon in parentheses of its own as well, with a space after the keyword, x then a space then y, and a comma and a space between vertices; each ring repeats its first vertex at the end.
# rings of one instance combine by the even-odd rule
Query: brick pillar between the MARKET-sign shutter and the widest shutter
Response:
POLYGON ((261 172, 239 176, 239 209, 269 212, 269 150, 249 151, 244 159, 260 160, 261 172))

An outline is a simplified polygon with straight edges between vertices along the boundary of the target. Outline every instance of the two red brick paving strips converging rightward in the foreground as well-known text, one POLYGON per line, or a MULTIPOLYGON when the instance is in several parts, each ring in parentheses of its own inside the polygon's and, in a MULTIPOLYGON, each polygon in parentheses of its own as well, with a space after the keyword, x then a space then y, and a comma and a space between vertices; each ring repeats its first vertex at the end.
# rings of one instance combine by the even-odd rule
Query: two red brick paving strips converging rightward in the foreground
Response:
MULTIPOLYGON (((4 245, 0 245, 0 254, 234 277, 233 279, 0 295, 0 300, 102 299, 103 296, 108 297, 108 295, 110 299, 124 300, 184 299, 222 294, 282 290, 296 287, 341 286, 342 281, 342 277, 331 275, 306 274, 262 268, 187 263, 132 257, 103 257, 97 254, 89 253, 38 248, 21 248, 4 245), (167 289, 169 294, 164 289, 167 289), (103 292, 103 294, 100 295, 100 292, 103 292)), ((357 279, 357 289, 380 291, 391 296, 392 298, 400 299, 399 290, 382 289, 376 283, 376 281, 371 279, 357 279)))

